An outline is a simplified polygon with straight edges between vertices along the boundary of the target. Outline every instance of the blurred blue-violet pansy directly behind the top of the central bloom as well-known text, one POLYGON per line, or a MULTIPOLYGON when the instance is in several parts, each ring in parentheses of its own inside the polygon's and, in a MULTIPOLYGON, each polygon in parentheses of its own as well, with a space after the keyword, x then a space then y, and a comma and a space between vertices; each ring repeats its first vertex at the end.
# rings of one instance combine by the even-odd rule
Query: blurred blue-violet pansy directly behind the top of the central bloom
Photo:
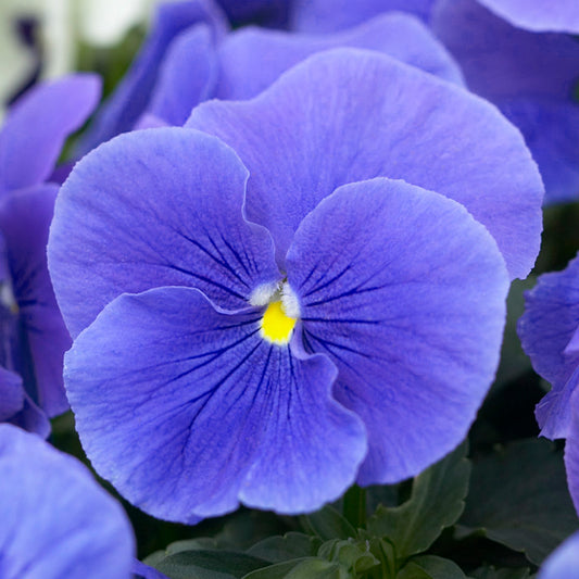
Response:
MULTIPOLYGON (((379 15, 336 35, 302 35, 254 26, 226 35, 218 12, 211 12, 213 20, 203 23, 191 17, 191 10, 185 10, 187 2, 179 4, 179 10, 171 3, 159 8, 156 24, 135 64, 104 104, 83 151, 136 127, 181 126, 197 104, 211 98, 252 98, 310 54, 337 47, 377 50, 463 84, 446 49, 410 14, 379 15), (162 46, 160 37, 164 39, 162 46)), ((192 7, 198 4, 193 2, 192 7)))

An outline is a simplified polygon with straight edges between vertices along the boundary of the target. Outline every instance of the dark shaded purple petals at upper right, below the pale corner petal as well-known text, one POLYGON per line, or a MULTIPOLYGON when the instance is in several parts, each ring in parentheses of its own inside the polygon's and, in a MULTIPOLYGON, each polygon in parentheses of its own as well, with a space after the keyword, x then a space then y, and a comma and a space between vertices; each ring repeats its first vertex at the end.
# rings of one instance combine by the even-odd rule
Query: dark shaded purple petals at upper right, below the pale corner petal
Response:
MULTIPOLYGON (((579 81, 579 42, 563 34, 516 28, 481 3, 439 0, 431 27, 458 61, 468 88, 496 104, 523 131, 545 182, 545 202, 577 199, 579 104, 574 91, 579 81)), ((524 2, 500 3, 506 10, 524 2)), ((537 4, 541 3, 543 11, 557 14, 552 2, 537 4)), ((531 14, 531 3, 525 4, 531 14)), ((565 5, 570 7, 561 2, 565 5)))

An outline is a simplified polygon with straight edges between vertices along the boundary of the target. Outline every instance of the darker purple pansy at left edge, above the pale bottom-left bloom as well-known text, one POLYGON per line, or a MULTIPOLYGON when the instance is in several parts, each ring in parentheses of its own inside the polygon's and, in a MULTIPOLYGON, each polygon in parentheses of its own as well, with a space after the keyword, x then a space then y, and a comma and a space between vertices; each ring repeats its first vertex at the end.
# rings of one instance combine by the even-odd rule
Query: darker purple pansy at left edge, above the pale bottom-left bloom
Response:
POLYGON ((71 338, 46 257, 59 189, 52 174, 64 139, 84 123, 99 90, 91 75, 39 85, 0 130, 0 420, 42 436, 49 429, 43 413, 68 407, 62 357, 71 338))

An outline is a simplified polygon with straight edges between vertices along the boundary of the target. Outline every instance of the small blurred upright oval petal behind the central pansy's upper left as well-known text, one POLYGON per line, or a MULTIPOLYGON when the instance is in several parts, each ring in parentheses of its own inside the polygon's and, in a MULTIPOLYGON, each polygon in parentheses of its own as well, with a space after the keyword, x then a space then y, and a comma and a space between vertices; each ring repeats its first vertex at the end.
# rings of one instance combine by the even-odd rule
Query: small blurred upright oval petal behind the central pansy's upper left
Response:
POLYGON ((172 42, 151 96, 150 114, 181 126, 193 106, 213 96, 217 53, 211 28, 198 24, 172 42))

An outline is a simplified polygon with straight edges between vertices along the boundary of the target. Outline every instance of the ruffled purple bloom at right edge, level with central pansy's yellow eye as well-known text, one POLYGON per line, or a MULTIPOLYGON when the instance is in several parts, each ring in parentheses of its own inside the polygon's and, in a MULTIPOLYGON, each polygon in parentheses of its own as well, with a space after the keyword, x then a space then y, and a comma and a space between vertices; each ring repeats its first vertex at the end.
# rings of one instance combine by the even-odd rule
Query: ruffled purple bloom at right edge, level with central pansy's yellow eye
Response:
POLYGON ((533 368, 552 385, 537 405, 541 433, 566 438, 570 428, 570 397, 579 380, 579 257, 563 272, 544 274, 526 293, 518 324, 523 349, 533 368))

